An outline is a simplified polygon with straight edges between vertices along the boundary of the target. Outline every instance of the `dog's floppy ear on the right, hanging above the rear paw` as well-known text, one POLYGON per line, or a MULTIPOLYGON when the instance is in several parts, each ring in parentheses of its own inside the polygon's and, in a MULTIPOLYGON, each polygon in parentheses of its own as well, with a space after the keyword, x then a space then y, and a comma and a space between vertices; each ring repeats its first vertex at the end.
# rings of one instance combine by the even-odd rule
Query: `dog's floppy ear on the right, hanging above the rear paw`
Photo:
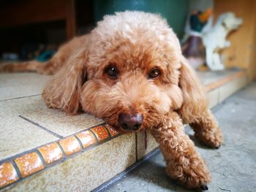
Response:
POLYGON ((185 123, 191 123, 198 118, 197 115, 207 110, 208 99, 195 70, 189 66, 184 56, 181 57, 179 87, 184 101, 179 113, 185 123))

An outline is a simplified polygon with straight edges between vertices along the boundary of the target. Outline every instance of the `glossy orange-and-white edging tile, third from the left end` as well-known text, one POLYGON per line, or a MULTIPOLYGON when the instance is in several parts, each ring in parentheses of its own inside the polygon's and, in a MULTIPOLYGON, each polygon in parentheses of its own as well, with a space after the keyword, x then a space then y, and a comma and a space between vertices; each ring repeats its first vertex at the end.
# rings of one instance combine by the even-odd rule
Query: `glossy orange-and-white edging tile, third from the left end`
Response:
POLYGON ((51 164, 63 158, 61 148, 56 142, 39 147, 38 150, 39 153, 41 153, 42 158, 44 158, 46 164, 51 164))

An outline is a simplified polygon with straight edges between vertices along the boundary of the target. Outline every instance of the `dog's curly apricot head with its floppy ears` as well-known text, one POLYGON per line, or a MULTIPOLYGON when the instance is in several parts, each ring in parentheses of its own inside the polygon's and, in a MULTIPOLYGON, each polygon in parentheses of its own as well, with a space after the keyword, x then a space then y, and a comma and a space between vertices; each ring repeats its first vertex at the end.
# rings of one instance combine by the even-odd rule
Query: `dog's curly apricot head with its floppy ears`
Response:
POLYGON ((69 113, 83 109, 129 131, 157 126, 182 106, 193 110, 195 74, 158 15, 106 16, 89 38, 89 47, 81 47, 45 88, 48 106, 69 113))

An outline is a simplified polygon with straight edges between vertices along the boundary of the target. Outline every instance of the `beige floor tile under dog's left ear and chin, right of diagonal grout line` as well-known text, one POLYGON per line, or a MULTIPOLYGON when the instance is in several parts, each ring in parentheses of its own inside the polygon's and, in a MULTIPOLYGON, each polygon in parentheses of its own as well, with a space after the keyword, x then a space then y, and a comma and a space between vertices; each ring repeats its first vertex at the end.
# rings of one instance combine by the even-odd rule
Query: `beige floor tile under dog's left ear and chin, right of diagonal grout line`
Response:
POLYGON ((60 110, 48 109, 41 96, 26 98, 22 102, 24 103, 24 107, 20 111, 20 115, 33 120, 35 123, 39 123, 39 125, 63 137, 104 123, 103 120, 94 118, 93 115, 86 113, 66 115, 65 112, 61 112, 60 110))

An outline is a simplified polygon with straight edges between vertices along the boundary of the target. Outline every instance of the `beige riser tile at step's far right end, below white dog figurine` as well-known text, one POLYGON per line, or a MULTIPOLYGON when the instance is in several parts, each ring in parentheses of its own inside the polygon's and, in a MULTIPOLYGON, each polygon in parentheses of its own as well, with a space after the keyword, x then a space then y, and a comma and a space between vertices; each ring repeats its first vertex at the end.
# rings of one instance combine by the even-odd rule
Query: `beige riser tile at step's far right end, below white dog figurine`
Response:
POLYGON ((219 102, 224 101, 228 96, 232 95, 239 89, 244 88, 246 86, 246 82, 246 77, 241 77, 223 85, 219 89, 219 102))

